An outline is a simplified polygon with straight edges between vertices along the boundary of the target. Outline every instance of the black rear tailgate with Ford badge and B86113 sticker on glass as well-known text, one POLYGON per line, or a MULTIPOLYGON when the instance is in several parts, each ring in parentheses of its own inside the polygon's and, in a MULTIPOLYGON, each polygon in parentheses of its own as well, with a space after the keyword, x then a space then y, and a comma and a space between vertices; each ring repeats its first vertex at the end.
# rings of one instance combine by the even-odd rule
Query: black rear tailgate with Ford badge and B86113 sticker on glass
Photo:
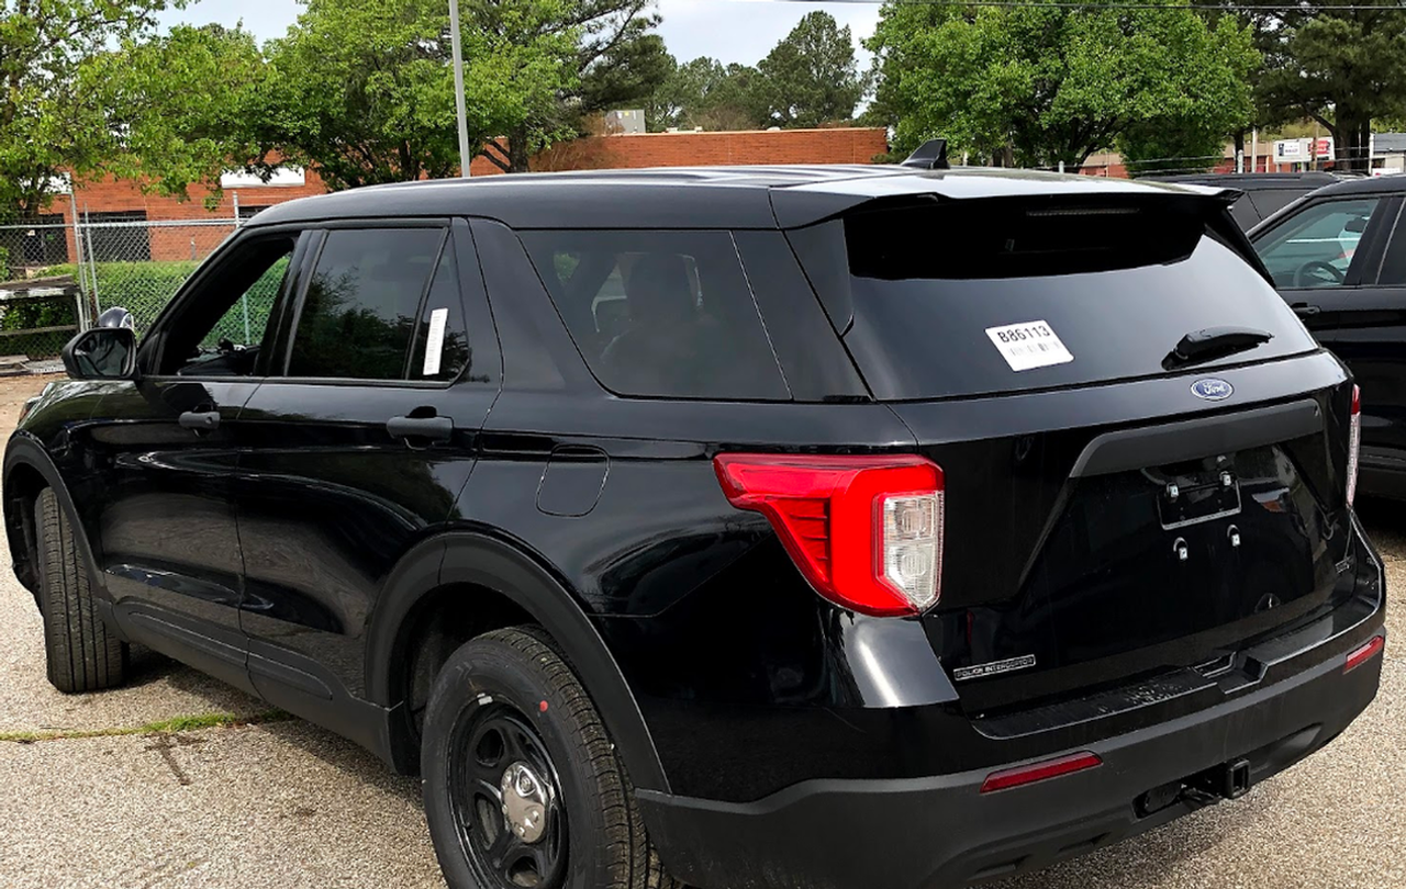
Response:
POLYGON ((967 712, 1233 666, 1351 594, 1351 383, 1226 229, 1171 192, 905 197, 790 233, 943 469, 922 619, 967 712), (1256 336, 1173 354, 1223 327, 1256 336))

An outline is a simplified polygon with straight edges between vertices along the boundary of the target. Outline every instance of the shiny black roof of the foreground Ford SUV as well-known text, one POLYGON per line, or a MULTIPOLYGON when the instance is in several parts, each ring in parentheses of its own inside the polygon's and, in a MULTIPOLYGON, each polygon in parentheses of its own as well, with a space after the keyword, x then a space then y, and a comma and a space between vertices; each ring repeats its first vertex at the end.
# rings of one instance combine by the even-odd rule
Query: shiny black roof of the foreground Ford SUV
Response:
POLYGON ((1074 197, 1205 190, 1094 176, 887 164, 676 167, 520 173, 353 188, 270 206, 250 226, 344 218, 486 216, 513 228, 731 228, 808 225, 873 198, 932 194, 1074 197))

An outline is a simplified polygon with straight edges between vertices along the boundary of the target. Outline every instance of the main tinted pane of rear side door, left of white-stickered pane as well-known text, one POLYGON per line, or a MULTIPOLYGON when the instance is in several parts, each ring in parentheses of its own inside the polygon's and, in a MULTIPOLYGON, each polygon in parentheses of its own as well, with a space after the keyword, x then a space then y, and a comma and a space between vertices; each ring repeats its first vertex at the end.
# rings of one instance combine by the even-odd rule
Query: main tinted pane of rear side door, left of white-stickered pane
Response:
POLYGON ((298 310, 290 376, 402 379, 443 229, 335 229, 298 310))

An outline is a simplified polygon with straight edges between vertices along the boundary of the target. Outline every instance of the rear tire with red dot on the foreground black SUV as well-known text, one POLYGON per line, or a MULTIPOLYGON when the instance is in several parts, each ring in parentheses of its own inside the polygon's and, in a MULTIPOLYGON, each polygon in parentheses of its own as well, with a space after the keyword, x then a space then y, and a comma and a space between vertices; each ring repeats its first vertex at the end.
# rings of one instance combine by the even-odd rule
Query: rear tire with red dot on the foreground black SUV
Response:
POLYGON ((537 628, 494 631, 450 656, 430 692, 420 764, 450 889, 682 889, 645 836, 595 705, 537 628), (495 735, 508 740, 499 746, 495 735), (553 784, 536 845, 510 836, 503 803, 513 791, 492 781, 513 763, 553 784), (495 858, 485 848, 498 848, 495 838, 519 851, 495 858), (515 854, 523 855, 517 871, 515 854))

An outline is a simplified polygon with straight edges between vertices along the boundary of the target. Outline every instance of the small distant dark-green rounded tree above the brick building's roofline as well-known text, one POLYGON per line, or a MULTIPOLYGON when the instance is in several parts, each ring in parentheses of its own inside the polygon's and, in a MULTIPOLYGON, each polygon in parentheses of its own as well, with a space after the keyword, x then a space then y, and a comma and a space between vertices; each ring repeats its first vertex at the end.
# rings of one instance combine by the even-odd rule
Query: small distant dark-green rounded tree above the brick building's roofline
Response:
POLYGON ((820 126, 849 121, 865 86, 849 25, 830 13, 807 13, 756 65, 758 98, 778 126, 820 126))

